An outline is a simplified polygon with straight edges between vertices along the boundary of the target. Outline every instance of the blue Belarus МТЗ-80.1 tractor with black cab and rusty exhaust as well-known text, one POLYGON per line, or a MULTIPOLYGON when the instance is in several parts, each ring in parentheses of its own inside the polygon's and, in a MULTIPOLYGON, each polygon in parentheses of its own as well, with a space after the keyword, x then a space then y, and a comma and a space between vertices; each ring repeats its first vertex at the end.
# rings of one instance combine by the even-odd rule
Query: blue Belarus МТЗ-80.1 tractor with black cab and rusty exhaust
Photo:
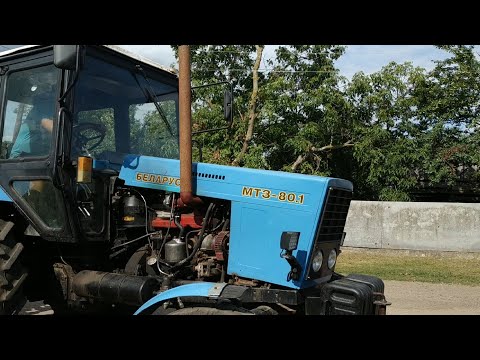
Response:
POLYGON ((0 313, 385 314, 381 279, 335 272, 352 184, 192 162, 179 60, 0 53, 0 313))

